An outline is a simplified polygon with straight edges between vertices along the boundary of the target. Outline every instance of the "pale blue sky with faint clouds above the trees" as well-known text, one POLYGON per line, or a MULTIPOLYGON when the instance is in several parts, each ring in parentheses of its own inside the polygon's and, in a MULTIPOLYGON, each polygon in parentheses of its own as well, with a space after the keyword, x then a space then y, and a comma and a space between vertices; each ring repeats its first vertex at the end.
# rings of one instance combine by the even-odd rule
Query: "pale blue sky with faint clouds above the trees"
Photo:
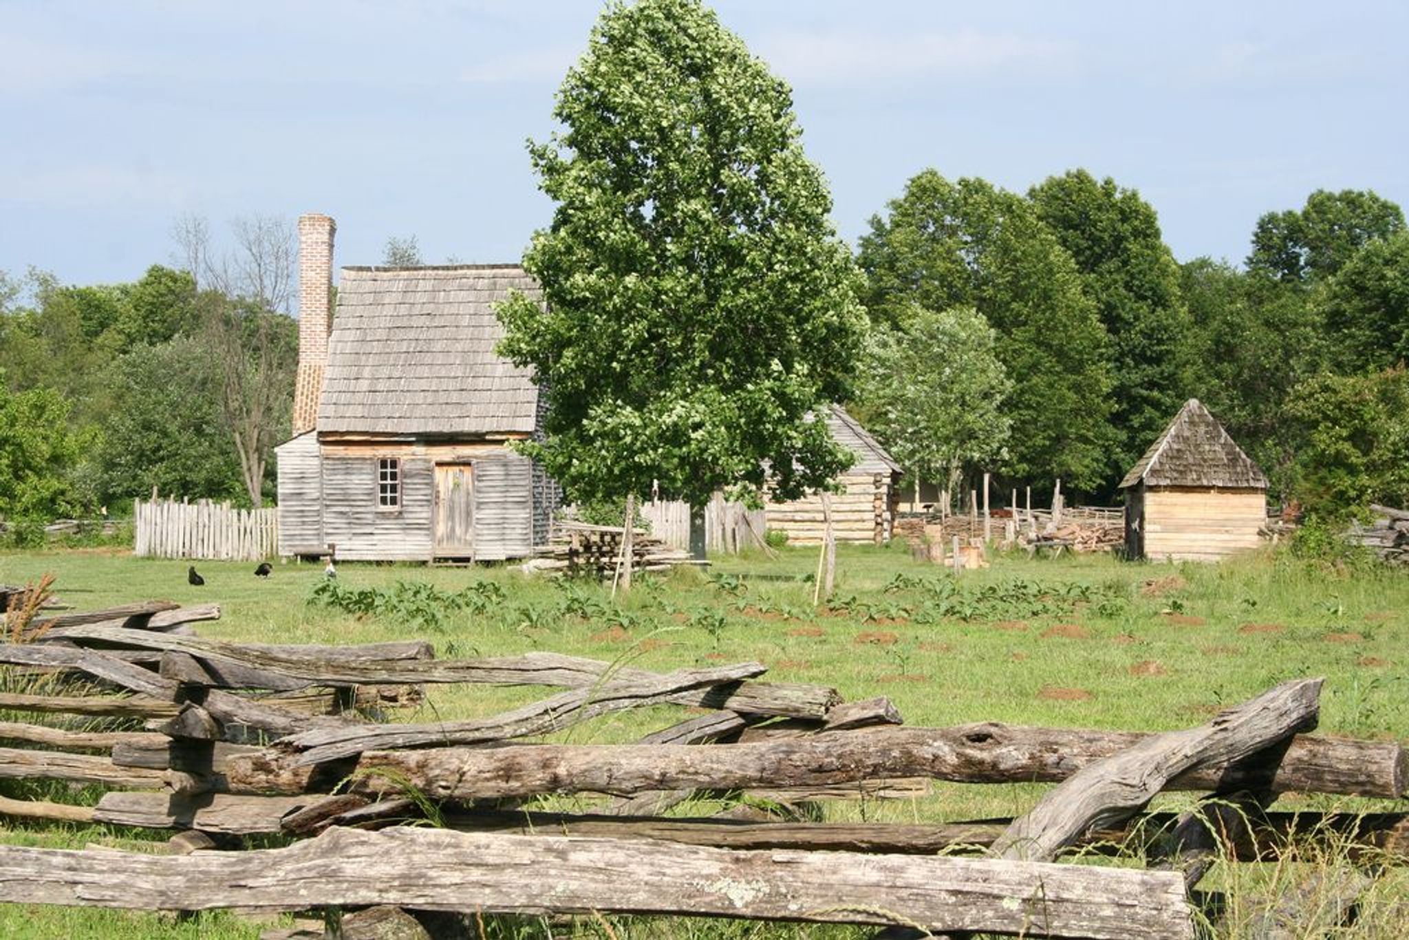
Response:
MULTIPOLYGON (((854 241, 914 172, 1024 190, 1072 166, 1240 261, 1317 187, 1409 204, 1409 4, 717 0, 793 85, 854 241)), ((524 154, 595 0, 0 0, 0 271, 90 283, 201 214, 338 221, 338 264, 516 259, 524 154)))

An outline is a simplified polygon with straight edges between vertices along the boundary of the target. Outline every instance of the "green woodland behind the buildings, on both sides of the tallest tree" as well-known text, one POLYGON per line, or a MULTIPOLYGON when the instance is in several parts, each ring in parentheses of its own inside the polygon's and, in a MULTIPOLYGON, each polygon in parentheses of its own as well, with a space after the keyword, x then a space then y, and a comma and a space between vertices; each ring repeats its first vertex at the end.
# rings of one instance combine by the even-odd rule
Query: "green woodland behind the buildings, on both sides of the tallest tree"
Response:
MULTIPOLYGON (((292 227, 180 220, 121 285, 0 271, 0 517, 11 537, 132 497, 272 502, 297 324, 292 227), (28 528, 27 528, 28 527, 28 528)), ((390 240, 392 264, 416 242, 390 240)), ((1178 262, 1154 209, 1085 171, 1027 193, 913 178, 858 245, 869 344, 852 406, 907 466, 1091 500, 1188 397, 1272 479, 1344 513, 1409 505, 1409 231, 1371 192, 1264 214, 1247 258, 1178 262)))

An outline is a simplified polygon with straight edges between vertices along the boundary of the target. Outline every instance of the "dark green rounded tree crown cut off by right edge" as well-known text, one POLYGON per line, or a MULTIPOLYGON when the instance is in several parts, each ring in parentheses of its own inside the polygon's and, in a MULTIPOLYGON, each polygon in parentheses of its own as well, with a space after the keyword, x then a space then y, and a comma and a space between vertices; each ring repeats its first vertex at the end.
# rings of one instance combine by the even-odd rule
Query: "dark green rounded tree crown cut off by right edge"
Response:
POLYGON ((1341 371, 1409 361, 1409 231, 1371 241, 1317 296, 1341 371))

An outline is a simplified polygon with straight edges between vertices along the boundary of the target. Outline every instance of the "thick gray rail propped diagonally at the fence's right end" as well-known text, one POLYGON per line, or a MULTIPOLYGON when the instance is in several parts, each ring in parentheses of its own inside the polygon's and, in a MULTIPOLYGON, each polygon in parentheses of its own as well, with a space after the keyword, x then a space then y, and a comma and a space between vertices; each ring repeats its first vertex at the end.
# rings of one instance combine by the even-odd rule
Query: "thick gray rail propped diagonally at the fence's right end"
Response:
MULTIPOLYGON (((1013 820, 993 844, 1002 858, 1045 861, 1088 829, 1129 819, 1192 768, 1227 765, 1315 727, 1323 679, 1284 682, 1208 724, 1167 731, 1076 771, 1013 820)), ((1281 754, 1278 753, 1278 757, 1281 754)))

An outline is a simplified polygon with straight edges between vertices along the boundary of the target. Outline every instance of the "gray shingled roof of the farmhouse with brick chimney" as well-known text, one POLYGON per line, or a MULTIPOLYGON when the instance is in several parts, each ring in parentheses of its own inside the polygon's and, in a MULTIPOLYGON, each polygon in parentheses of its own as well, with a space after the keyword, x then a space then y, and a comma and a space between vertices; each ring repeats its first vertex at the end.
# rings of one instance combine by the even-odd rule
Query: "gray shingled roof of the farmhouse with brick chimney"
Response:
POLYGON ((519 265, 344 268, 318 431, 533 433, 533 372, 495 352, 510 290, 540 296, 519 265))

